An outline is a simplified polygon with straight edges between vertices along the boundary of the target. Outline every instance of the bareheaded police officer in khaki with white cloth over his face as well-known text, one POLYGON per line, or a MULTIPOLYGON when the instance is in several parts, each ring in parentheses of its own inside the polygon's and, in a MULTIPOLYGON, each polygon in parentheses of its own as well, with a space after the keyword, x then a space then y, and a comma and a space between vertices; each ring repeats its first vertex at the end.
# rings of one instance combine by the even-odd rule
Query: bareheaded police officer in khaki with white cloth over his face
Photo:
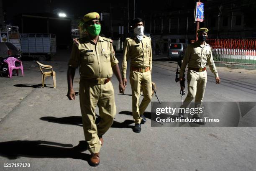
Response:
POLYGON ((141 132, 141 123, 146 122, 143 115, 152 98, 152 49, 151 39, 143 34, 143 20, 135 18, 132 22, 134 36, 126 38, 124 43, 122 77, 126 87, 127 60, 131 59, 130 83, 132 89, 132 110, 135 126, 133 131, 141 132), (143 100, 139 105, 139 98, 143 92, 143 100))

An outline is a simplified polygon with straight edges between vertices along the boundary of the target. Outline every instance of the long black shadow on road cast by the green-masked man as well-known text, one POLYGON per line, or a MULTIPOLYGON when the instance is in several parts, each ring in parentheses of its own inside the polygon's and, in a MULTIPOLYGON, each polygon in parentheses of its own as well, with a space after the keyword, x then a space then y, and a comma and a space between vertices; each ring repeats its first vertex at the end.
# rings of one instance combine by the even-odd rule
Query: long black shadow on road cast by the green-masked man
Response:
POLYGON ((90 160, 90 155, 81 153, 81 151, 85 150, 87 150, 87 144, 85 141, 80 141, 75 147, 73 147, 72 144, 61 144, 41 140, 15 140, 0 142, 0 156, 6 157, 10 160, 14 160, 19 157, 74 158, 88 162, 90 160))

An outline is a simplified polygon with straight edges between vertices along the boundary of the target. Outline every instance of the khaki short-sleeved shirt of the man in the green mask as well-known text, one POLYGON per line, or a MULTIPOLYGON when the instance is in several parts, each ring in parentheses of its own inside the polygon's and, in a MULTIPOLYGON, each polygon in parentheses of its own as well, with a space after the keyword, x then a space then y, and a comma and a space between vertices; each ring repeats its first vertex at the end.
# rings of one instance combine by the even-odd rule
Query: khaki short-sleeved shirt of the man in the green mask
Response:
POLYGON ((113 75, 112 66, 118 64, 112 40, 99 36, 95 44, 89 36, 80 38, 74 44, 68 65, 79 67, 80 76, 84 79, 110 78, 113 75))

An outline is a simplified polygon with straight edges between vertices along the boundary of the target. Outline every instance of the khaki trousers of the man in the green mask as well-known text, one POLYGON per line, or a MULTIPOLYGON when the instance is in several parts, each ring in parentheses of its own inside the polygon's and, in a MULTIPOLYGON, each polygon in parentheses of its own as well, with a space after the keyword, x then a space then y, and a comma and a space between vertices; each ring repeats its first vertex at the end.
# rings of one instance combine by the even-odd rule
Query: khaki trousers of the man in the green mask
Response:
POLYGON ((99 153, 101 144, 99 136, 107 132, 113 124, 116 114, 114 89, 111 82, 92 84, 88 80, 80 80, 79 100, 82 113, 82 123, 88 150, 99 153), (95 124, 95 108, 99 107, 100 123, 95 124))

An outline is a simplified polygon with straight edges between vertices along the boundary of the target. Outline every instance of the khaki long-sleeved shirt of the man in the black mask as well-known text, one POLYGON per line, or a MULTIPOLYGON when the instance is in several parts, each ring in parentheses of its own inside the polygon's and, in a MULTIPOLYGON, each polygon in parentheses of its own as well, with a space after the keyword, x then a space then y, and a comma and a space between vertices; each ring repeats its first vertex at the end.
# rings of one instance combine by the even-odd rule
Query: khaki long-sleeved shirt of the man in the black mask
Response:
POLYGON ((207 43, 204 45, 200 45, 199 42, 189 44, 180 67, 180 77, 184 76, 187 64, 188 68, 204 68, 206 63, 210 66, 215 77, 219 77, 212 57, 212 47, 207 43))

